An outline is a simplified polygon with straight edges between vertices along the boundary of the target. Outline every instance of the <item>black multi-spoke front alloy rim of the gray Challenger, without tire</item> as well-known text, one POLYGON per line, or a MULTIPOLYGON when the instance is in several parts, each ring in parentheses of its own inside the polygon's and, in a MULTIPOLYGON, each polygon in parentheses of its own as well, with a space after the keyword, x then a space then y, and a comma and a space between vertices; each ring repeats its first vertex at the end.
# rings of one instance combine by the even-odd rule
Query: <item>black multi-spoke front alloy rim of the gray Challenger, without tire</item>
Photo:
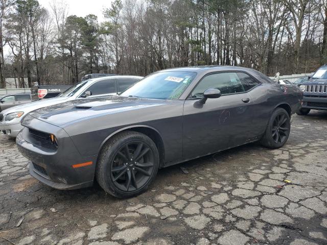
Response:
POLYGON ((122 191, 142 188, 150 179, 154 169, 154 154, 141 141, 130 141, 123 145, 110 164, 110 178, 122 191))

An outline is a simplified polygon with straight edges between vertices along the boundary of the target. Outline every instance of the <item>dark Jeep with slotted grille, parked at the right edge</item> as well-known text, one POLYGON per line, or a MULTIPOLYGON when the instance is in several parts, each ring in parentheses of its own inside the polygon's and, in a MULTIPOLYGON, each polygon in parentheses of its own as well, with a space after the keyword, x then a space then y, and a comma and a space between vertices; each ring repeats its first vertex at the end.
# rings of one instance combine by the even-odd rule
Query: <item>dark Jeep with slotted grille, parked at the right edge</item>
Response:
POLYGON ((298 84, 303 91, 301 108, 298 115, 307 115, 311 109, 327 110, 327 64, 321 66, 309 81, 298 84))

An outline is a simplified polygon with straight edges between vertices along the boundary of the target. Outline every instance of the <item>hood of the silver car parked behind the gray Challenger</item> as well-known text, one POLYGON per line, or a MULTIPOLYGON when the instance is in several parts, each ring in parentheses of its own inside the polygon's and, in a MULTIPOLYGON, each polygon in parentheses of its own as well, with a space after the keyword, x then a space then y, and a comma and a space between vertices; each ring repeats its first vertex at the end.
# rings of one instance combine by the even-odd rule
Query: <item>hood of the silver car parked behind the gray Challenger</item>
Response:
POLYGON ((27 104, 24 104, 24 105, 10 107, 10 108, 8 108, 6 110, 3 110, 1 113, 3 113, 4 115, 7 115, 9 113, 22 111, 22 112, 24 112, 24 114, 26 114, 26 113, 29 113, 29 112, 34 111, 36 109, 46 107, 46 106, 52 106, 52 105, 62 103, 64 101, 71 100, 71 99, 72 99, 71 97, 54 97, 54 98, 51 98, 51 99, 43 99, 43 100, 40 100, 40 101, 27 103, 27 104))

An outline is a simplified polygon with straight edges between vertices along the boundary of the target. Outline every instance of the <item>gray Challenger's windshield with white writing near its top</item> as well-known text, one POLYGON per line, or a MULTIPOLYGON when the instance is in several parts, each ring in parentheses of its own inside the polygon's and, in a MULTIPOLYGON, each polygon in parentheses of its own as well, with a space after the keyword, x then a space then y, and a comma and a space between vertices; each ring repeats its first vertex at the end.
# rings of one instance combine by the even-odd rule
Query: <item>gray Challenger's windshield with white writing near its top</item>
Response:
POLYGON ((132 87, 125 90, 121 96, 177 100, 196 75, 196 72, 158 72, 134 84, 132 87))

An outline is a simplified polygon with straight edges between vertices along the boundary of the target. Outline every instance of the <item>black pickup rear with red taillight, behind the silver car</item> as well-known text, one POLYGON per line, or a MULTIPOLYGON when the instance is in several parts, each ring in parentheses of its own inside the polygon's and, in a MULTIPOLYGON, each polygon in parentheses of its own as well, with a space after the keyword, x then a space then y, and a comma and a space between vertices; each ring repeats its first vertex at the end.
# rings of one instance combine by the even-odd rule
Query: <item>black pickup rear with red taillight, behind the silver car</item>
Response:
POLYGON ((32 101, 56 97, 59 93, 66 91, 72 85, 37 85, 31 88, 32 101))

